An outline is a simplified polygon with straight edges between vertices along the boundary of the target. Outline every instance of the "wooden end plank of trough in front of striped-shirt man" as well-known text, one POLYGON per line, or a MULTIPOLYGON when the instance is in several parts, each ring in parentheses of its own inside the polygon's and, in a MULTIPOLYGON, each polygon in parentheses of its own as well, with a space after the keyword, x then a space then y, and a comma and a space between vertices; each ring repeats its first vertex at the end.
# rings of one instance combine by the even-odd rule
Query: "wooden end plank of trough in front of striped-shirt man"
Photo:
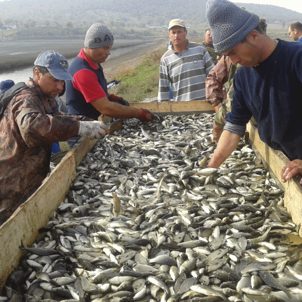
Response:
POLYGON ((148 109, 154 113, 165 114, 193 114, 193 113, 214 113, 214 108, 206 100, 188 102, 142 102, 130 103, 131 107, 148 109))

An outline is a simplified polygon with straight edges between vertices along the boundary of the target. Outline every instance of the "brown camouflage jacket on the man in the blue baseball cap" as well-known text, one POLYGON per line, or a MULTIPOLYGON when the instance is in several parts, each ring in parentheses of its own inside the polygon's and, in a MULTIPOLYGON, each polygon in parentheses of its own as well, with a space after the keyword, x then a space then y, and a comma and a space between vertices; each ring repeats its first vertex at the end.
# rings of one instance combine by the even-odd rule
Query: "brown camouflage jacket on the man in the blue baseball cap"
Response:
POLYGON ((42 183, 49 172, 51 145, 78 135, 83 116, 57 111, 31 79, 0 120, 0 222, 3 223, 42 183))

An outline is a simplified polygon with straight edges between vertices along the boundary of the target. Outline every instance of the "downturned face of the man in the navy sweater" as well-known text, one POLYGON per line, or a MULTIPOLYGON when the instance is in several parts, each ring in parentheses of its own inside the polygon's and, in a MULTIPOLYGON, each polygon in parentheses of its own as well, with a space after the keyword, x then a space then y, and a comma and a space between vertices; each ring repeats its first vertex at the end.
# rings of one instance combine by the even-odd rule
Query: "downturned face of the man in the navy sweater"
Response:
POLYGON ((261 62, 261 51, 250 42, 238 43, 233 48, 222 52, 224 55, 230 56, 233 64, 254 67, 261 62))

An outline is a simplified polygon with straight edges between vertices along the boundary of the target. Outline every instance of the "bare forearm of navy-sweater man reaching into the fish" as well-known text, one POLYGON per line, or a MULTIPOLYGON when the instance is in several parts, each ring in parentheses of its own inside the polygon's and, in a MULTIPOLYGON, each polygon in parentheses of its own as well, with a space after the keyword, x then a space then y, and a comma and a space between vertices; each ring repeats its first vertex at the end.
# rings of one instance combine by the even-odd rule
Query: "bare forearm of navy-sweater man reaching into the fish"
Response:
POLYGON ((223 130, 208 167, 218 168, 235 150, 240 138, 241 136, 237 133, 223 130))

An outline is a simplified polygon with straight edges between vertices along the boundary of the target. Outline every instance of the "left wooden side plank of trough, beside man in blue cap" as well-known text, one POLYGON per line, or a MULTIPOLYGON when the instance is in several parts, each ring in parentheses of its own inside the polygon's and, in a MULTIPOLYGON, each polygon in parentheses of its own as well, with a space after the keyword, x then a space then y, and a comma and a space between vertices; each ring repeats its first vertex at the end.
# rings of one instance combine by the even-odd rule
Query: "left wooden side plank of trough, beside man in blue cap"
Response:
POLYGON ((22 251, 21 244, 30 246, 45 226, 54 210, 64 200, 75 178, 75 167, 90 150, 96 140, 85 139, 74 146, 45 178, 41 186, 13 215, 0 226, 0 294, 7 277, 18 267, 22 251))

